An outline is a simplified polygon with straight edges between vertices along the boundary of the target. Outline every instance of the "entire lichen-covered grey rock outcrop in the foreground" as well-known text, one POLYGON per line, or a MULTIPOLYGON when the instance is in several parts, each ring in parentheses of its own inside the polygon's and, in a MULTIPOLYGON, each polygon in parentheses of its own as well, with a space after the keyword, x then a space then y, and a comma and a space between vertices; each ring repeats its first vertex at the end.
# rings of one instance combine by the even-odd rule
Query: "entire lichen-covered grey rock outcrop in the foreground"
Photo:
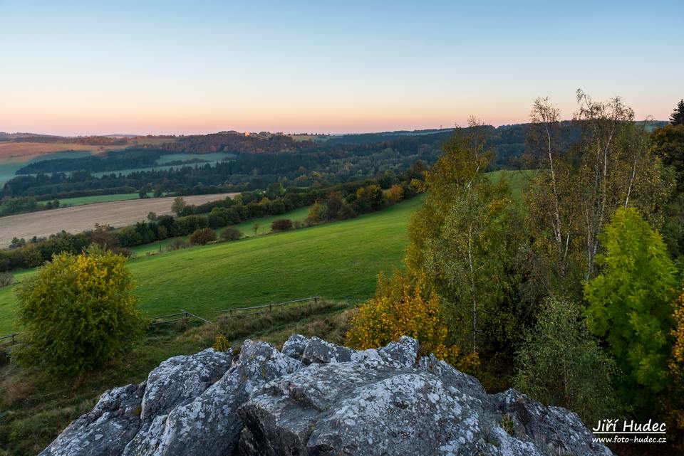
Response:
POLYGON ((281 351, 167 359, 114 388, 42 456, 611 455, 579 417, 476 378, 403 337, 355 351, 291 336, 281 351))

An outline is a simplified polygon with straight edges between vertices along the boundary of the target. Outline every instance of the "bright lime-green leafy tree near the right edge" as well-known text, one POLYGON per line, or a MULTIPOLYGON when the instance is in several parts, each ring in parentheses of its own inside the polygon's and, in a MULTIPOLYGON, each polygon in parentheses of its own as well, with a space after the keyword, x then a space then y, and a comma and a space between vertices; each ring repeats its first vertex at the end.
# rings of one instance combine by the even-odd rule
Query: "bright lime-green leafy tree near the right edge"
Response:
POLYGON ((623 393, 662 391, 668 383, 675 265, 660 235, 634 208, 616 211, 602 244, 606 253, 597 262, 603 270, 585 286, 589 329, 606 339, 626 374, 623 393))

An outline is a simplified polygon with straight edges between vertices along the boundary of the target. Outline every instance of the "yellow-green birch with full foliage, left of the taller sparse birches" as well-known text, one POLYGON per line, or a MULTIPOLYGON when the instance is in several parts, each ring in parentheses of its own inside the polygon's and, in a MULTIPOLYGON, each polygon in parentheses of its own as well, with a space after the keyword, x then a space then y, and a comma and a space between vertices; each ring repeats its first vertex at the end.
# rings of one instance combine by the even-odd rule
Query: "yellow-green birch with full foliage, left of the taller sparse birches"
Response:
POLYGON ((488 342, 515 331, 514 317, 498 304, 514 287, 510 263, 522 238, 507 184, 485 176, 493 157, 487 128, 471 119, 425 173, 427 196, 411 220, 406 258, 413 277, 427 275, 452 336, 473 353, 487 345, 482 336, 488 342))

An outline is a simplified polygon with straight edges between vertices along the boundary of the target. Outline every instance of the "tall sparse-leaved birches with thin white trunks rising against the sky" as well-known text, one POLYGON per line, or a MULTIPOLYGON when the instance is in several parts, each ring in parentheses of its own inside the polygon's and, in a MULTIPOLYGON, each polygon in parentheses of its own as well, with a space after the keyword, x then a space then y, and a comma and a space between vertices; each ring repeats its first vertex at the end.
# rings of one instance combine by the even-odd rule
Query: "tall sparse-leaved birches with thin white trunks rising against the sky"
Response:
POLYGON ((596 275, 598 235, 617 208, 635 207, 654 226, 672 185, 648 147, 648 133, 620 97, 595 101, 576 93, 573 122, 561 122, 548 98, 532 107, 530 151, 539 174, 525 192, 534 247, 549 266, 548 292, 581 294, 579 286, 596 275), (567 124, 578 136, 561 144, 567 124))

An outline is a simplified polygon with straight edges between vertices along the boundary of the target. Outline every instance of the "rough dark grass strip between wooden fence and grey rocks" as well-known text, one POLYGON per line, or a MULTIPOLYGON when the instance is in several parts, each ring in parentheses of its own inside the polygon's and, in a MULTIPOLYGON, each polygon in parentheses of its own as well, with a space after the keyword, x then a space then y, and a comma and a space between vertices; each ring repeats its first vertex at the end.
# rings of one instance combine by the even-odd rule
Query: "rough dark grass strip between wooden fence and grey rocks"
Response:
POLYGON ((345 302, 318 302, 203 326, 178 324, 151 332, 126 356, 83 376, 50 376, 15 364, 1 367, 0 456, 36 455, 71 420, 93 408, 105 390, 140 383, 161 361, 205 349, 219 333, 234 345, 249 337, 281 346, 294 333, 341 344, 350 314, 345 302))

